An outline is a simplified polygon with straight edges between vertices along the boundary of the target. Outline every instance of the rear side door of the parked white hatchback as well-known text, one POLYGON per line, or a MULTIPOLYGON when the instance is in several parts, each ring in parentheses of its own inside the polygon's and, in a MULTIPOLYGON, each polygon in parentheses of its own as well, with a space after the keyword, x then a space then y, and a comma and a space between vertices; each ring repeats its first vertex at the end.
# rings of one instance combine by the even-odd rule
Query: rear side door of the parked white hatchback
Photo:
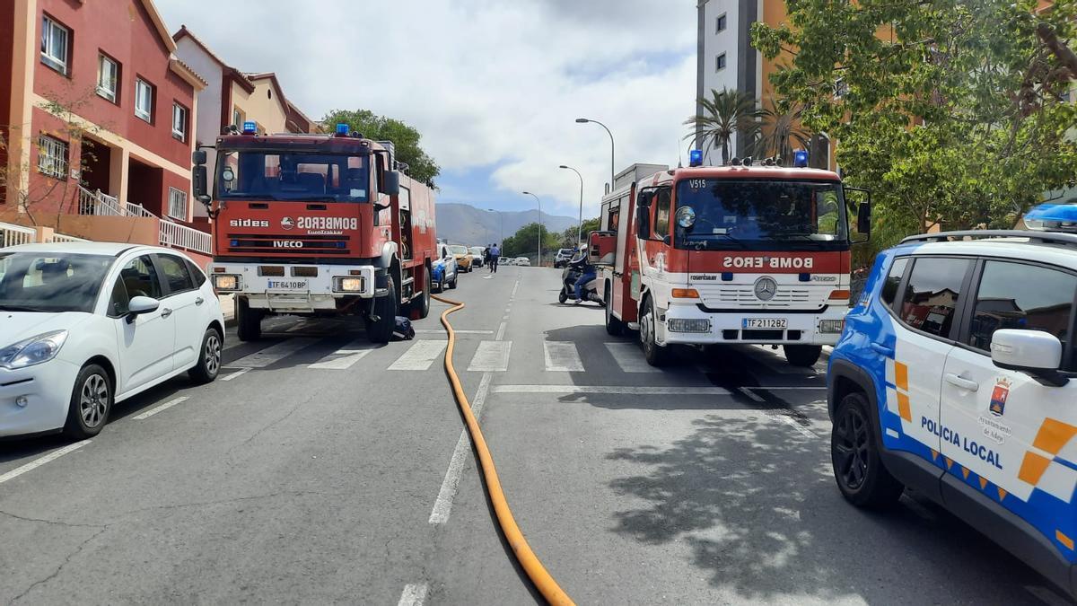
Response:
POLYGON ((193 367, 198 361, 202 333, 209 323, 204 320, 206 295, 195 285, 187 264, 177 254, 154 254, 157 271, 164 280, 163 313, 171 309, 174 336, 172 370, 193 367))

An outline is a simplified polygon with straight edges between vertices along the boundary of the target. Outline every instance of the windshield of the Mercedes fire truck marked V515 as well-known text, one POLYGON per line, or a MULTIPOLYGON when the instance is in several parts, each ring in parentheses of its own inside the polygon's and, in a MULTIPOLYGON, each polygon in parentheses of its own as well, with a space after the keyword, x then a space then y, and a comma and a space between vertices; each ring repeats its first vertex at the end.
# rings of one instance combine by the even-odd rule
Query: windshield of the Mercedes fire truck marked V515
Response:
POLYGON ((679 248, 849 247, 841 184, 833 181, 685 179, 677 184, 674 211, 684 207, 695 211, 695 222, 676 226, 679 248))

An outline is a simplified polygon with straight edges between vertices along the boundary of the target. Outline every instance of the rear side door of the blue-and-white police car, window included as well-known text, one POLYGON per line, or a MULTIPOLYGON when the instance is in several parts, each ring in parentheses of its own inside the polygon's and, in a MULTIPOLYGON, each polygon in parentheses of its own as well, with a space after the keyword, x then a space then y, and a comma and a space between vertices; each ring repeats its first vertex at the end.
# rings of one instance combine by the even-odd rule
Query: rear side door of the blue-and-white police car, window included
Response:
MULTIPOLYGON (((895 262, 895 265, 897 263, 895 262)), ((939 389, 942 367, 953 349, 962 291, 973 261, 920 257, 903 280, 895 301, 893 360, 886 362, 886 408, 883 443, 941 467, 939 389)), ((880 347, 872 344, 872 348, 880 347)), ((884 352, 880 347, 880 353, 884 352)))

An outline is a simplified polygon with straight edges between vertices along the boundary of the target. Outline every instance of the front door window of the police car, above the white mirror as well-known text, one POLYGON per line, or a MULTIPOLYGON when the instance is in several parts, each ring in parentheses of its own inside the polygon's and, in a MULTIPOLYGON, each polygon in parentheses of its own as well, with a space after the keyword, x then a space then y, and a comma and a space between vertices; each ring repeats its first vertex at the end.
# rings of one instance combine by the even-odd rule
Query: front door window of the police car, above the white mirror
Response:
MULTIPOLYGON (((988 261, 983 264, 968 345, 991 350, 991 335, 1005 328, 1043 330, 1073 345, 1072 321, 1077 276, 1057 270, 988 261)), ((1072 364, 1072 362, 1071 362, 1072 364)))

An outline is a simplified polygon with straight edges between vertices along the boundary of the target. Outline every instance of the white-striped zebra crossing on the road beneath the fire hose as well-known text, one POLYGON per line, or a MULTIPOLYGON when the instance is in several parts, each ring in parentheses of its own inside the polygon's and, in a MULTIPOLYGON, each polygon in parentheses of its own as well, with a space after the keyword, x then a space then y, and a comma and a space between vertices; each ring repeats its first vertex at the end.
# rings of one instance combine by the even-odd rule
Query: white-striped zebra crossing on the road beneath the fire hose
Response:
MULTIPOLYGON (((513 341, 498 340, 490 334, 492 331, 457 331, 467 334, 471 340, 458 342, 457 368, 468 372, 504 373, 510 369, 527 367, 529 370, 542 370, 548 373, 583 373, 588 370, 618 369, 630 375, 662 373, 647 363, 640 346, 632 342, 605 342, 582 344, 571 341, 543 341, 542 354, 537 348, 527 347, 537 345, 522 343, 523 347, 515 347, 513 341), (475 342, 477 341, 477 345, 475 342), (583 349, 583 353, 582 353, 583 349), (600 359, 604 358, 604 359, 600 359), (585 363, 586 360, 586 363, 585 363), (537 364, 542 364, 537 368, 537 364)), ((500 336, 500 335, 499 335, 500 336)), ((239 376, 242 371, 265 370, 275 366, 305 367, 318 371, 346 371, 363 360, 370 361, 372 369, 388 372, 426 371, 435 364, 440 364, 448 342, 435 332, 424 332, 420 338, 406 343, 393 343, 389 346, 377 346, 368 343, 365 338, 342 344, 339 348, 325 352, 326 346, 339 336, 288 336, 282 341, 269 344, 263 349, 246 353, 229 361, 227 354, 223 374, 230 378, 239 376), (321 349, 321 350, 319 350, 321 349), (296 358, 290 363, 292 358, 296 358), (235 376, 233 376, 235 375, 235 376)), ((250 347, 250 344, 244 344, 250 347)), ((240 346, 232 345, 235 350, 240 346)), ((812 374, 810 369, 792 369, 784 360, 767 353, 749 353, 755 359, 782 374, 812 374)), ((554 376, 554 375, 551 375, 554 376)))

